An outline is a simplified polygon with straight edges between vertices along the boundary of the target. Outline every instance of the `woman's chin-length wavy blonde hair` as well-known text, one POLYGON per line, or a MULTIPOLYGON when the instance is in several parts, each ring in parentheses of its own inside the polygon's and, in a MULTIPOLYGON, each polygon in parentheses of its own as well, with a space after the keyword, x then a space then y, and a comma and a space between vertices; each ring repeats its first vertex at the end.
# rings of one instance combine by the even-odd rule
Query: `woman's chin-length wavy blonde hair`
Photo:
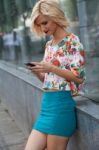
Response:
POLYGON ((37 35, 43 36, 44 33, 42 32, 40 26, 36 24, 36 19, 39 15, 48 16, 51 20, 64 29, 68 26, 68 21, 65 14, 56 0, 40 0, 33 7, 31 14, 31 30, 37 35))

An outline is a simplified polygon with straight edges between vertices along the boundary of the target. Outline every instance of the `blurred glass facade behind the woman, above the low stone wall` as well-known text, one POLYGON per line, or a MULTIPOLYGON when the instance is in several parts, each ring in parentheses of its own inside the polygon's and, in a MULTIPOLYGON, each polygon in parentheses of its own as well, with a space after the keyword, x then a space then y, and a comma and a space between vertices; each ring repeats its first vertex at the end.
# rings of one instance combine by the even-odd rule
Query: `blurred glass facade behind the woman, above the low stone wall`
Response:
MULTIPOLYGON (((99 92, 99 1, 57 0, 70 20, 69 32, 77 34, 85 48, 86 93, 99 92)), ((36 0, 0 0, 0 60, 24 67, 40 61, 49 37, 30 31, 30 15, 36 0)))

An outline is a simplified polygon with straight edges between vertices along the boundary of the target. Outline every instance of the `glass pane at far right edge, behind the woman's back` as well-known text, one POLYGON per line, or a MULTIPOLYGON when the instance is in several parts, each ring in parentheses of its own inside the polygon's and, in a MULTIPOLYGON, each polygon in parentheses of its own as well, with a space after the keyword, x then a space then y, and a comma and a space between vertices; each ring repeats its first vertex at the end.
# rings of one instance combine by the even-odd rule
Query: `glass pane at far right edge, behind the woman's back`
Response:
POLYGON ((99 1, 86 1, 89 50, 87 51, 87 81, 90 94, 99 93, 99 1), (91 91, 91 92, 90 92, 91 91))

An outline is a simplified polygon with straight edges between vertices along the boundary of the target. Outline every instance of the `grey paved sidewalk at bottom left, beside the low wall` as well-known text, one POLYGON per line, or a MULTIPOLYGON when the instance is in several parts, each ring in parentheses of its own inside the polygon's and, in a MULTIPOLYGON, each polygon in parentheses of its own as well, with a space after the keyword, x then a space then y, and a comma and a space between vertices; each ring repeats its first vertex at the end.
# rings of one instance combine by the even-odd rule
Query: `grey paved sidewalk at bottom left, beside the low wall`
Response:
POLYGON ((27 139, 0 101, 0 150, 24 150, 27 139))

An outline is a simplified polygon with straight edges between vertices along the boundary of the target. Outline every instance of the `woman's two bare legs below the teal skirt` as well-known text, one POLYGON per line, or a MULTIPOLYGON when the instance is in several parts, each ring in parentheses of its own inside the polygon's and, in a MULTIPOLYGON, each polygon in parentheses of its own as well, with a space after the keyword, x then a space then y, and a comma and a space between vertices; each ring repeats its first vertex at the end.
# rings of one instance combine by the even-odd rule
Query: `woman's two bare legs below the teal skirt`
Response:
POLYGON ((25 150, 66 150, 69 139, 33 130, 25 150), (47 148, 46 148, 47 147, 47 148))

